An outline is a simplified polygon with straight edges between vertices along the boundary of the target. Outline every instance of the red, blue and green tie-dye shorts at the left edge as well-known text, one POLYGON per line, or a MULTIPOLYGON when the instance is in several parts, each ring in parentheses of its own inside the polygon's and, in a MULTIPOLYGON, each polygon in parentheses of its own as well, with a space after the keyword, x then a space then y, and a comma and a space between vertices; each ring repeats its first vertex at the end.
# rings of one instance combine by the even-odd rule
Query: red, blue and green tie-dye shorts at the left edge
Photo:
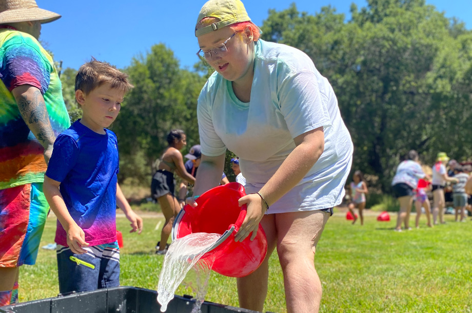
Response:
POLYGON ((0 267, 36 263, 48 212, 43 183, 0 190, 0 267))

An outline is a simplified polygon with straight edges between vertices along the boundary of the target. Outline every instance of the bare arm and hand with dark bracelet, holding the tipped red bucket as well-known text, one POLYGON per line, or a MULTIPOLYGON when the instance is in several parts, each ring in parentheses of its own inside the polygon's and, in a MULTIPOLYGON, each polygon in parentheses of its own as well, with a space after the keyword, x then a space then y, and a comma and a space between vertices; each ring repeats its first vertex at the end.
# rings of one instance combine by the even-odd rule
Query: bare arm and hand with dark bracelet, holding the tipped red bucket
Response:
MULTIPOLYGON (((269 206, 296 186, 318 161, 324 150, 323 127, 306 132, 293 140, 297 147, 259 192, 269 206)), ((242 197, 239 204, 247 204, 247 215, 234 240, 243 241, 251 232, 253 240, 259 222, 267 210, 266 204, 258 194, 242 197)))

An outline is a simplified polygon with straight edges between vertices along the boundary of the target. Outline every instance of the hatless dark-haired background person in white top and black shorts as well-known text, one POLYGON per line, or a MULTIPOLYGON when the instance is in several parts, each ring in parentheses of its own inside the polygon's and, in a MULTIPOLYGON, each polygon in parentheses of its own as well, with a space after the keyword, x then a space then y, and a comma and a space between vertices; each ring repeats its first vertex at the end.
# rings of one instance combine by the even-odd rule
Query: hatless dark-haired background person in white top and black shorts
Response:
POLYGON ((405 229, 411 229, 409 220, 411 205, 413 204, 413 190, 418 186, 418 179, 426 175, 418 163, 418 158, 418 153, 415 150, 410 150, 406 160, 398 165, 397 172, 391 183, 394 196, 400 202, 397 226, 394 229, 397 232, 402 231, 402 223, 405 225, 405 229))

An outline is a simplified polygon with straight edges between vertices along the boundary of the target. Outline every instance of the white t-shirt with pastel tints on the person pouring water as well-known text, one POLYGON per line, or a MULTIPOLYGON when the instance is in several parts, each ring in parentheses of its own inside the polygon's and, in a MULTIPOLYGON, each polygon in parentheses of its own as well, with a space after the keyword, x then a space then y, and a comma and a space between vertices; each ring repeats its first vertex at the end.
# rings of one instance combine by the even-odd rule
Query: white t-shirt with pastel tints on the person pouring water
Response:
POLYGON ((228 148, 237 154, 247 193, 259 191, 279 169, 296 147, 293 138, 323 127, 324 152, 299 182, 301 195, 294 195, 298 201, 290 204, 298 208, 278 211, 284 196, 270 211, 309 211, 341 203, 352 141, 331 85, 302 51, 258 40, 250 102, 240 101, 231 81, 215 72, 200 93, 197 114, 202 153, 219 156, 228 148))

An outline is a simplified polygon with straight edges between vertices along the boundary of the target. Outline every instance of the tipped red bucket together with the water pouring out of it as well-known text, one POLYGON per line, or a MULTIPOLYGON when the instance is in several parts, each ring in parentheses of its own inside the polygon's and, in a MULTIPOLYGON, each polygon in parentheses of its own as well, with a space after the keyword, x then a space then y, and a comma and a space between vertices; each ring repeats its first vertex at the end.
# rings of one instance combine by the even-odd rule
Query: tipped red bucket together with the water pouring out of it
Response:
MULTIPOLYGON (((166 254, 158 286, 161 311, 173 298, 188 270, 200 260, 209 269, 229 277, 244 277, 256 270, 267 254, 267 239, 259 225, 254 240, 234 241, 244 218, 244 187, 232 182, 201 195, 198 206, 185 205, 172 227, 172 244, 166 254)), ((208 270, 209 275, 209 270, 208 270)))

